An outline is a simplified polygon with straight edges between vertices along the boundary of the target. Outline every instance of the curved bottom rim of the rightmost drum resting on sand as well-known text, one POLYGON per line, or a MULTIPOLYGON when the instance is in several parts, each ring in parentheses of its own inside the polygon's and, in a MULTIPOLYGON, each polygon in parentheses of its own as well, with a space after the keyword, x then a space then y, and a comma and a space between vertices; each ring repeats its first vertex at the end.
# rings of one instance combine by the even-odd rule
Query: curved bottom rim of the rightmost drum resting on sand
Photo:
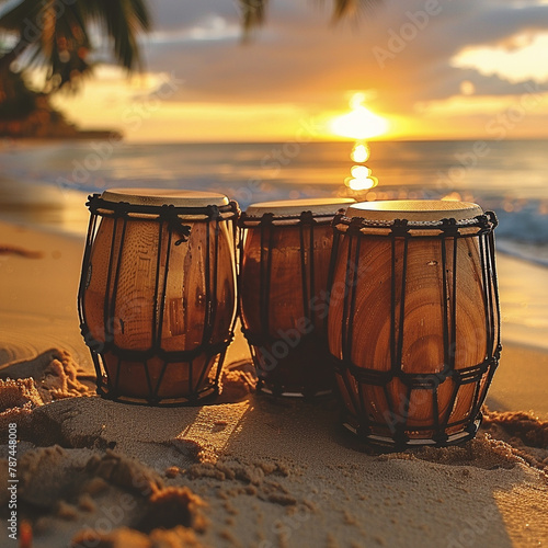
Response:
POLYGON ((476 419, 471 421, 466 429, 448 435, 441 433, 438 439, 434 439, 432 437, 410 438, 406 435, 396 438, 374 434, 372 432, 364 432, 364 430, 359 426, 357 419, 346 412, 343 413, 341 426, 347 432, 351 432, 361 441, 364 441, 365 443, 376 448, 385 452, 398 452, 410 449, 413 447, 448 447, 450 445, 461 444, 464 442, 467 442, 468 439, 472 439, 476 436, 482 420, 483 415, 481 412, 479 412, 476 419))

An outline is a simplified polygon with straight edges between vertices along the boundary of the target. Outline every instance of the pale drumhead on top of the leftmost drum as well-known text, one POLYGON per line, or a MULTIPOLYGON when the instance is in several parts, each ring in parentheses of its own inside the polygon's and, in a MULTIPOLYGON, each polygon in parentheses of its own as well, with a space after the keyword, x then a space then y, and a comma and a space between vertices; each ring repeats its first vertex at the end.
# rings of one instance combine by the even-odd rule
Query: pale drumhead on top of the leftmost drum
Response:
POLYGON ((127 202, 132 205, 175 207, 222 206, 229 203, 222 194, 215 192, 183 191, 176 189, 110 189, 101 197, 106 202, 127 202))

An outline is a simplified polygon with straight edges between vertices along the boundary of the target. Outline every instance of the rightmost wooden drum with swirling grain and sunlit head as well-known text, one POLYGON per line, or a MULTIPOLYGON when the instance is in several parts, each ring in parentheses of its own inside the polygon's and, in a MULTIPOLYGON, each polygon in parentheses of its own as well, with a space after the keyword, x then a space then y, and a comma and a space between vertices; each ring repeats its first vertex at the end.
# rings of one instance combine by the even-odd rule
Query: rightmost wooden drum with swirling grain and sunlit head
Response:
POLYGON ((443 201, 334 218, 329 346, 349 430, 396 448, 475 436, 501 351, 495 226, 443 201))

